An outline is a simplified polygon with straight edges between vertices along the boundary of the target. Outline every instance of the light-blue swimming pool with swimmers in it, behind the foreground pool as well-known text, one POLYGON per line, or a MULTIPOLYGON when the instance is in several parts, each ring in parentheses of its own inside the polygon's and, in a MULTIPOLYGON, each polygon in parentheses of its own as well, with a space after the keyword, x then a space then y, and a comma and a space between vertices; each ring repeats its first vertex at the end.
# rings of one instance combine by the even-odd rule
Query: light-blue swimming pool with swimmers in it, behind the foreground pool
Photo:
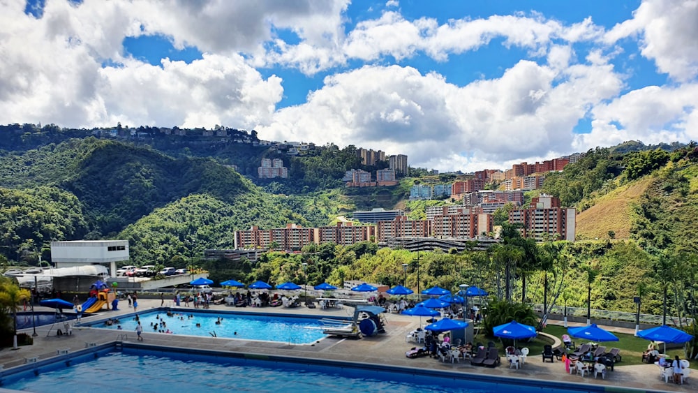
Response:
MULTIPOLYGON (((296 344, 315 343, 327 337, 322 334, 320 318, 312 316, 163 308, 138 313, 138 318, 143 332, 146 333, 166 334, 164 332, 169 329, 172 334, 296 344), (172 312, 170 316, 168 311, 172 312), (165 325, 162 325, 163 322, 165 325)), ((134 332, 138 322, 134 314, 129 314, 120 316, 119 322, 110 326, 105 325, 105 320, 83 325, 104 329, 118 329, 121 325, 121 329, 125 332, 134 332)))

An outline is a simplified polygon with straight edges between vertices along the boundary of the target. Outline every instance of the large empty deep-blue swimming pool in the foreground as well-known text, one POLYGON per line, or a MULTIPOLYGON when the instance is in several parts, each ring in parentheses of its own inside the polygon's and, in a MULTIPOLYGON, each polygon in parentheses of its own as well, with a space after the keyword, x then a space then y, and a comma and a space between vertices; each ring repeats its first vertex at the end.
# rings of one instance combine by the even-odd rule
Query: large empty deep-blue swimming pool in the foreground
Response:
MULTIPOLYGON (((4 371, 0 387, 31 392, 604 392, 607 386, 282 356, 124 343, 4 371), (60 381, 57 383, 57 381, 60 381), (176 388, 173 388, 176 387, 176 388)), ((632 392, 632 389, 623 389, 632 392)))

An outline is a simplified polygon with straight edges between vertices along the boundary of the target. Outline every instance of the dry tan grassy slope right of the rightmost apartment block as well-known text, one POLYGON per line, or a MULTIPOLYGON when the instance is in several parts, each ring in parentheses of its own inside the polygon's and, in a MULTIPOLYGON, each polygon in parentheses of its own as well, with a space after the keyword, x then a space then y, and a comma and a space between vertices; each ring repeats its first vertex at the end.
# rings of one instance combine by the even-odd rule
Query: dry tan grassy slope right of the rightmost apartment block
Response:
POLYGON ((616 239, 628 239, 632 204, 650 183, 651 179, 644 177, 598 198, 593 207, 577 215, 578 239, 608 239, 609 230, 616 232, 616 239))

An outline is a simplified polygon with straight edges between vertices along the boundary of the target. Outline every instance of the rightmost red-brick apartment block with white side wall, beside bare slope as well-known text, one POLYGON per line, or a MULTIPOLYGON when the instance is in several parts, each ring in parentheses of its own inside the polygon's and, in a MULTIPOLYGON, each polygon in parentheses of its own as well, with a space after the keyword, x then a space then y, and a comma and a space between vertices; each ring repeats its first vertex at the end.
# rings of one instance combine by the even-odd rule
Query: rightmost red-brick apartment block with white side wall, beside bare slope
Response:
POLYGON ((574 242, 576 209, 560 207, 560 198, 550 195, 531 198, 530 206, 509 212, 509 223, 521 225, 521 236, 532 237, 537 242, 547 238, 574 242))

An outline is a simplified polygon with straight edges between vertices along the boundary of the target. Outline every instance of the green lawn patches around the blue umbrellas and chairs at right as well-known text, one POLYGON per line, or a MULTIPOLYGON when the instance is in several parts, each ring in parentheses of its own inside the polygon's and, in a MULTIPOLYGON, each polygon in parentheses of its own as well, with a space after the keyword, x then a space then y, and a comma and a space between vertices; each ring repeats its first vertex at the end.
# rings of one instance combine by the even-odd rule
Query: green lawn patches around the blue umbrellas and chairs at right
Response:
MULTIPOLYGON (((543 332, 556 336, 559 339, 560 337, 562 337, 563 334, 567 334, 567 329, 558 325, 547 325, 547 327, 543 329, 543 332)), ((618 337, 618 339, 620 339, 620 341, 608 341, 600 343, 600 345, 606 346, 607 350, 610 350, 611 348, 621 349, 621 356, 623 357, 623 361, 616 363, 616 366, 632 366, 634 364, 642 364, 642 353, 647 349, 647 344, 649 343, 649 341, 645 339, 640 339, 639 337, 635 337, 632 334, 614 334, 618 337)), ((497 346, 500 346, 502 343, 502 341, 500 341, 500 339, 498 338, 488 339, 486 336, 482 334, 475 336, 475 340, 473 342, 481 342, 487 344, 487 341, 494 341, 495 343, 497 343, 497 346)), ((580 339, 574 339, 574 343, 577 344, 577 346, 579 346, 582 342, 580 339)), ((525 346, 528 348, 528 357, 530 358, 540 357, 540 354, 543 352, 543 346, 545 344, 547 344, 546 341, 543 341, 542 339, 538 338, 533 339, 533 341, 517 341, 517 347, 525 346)), ((660 346, 658 350, 660 350, 660 353, 663 352, 663 346, 660 346)), ((503 349, 501 353, 504 353, 503 349)), ((678 355, 678 357, 681 357, 683 359, 683 357, 685 356, 685 354, 683 353, 683 348, 673 348, 667 350, 667 356, 671 357, 671 359, 674 359, 675 355, 678 355)), ((698 369, 698 362, 691 362, 691 369, 698 369)))

